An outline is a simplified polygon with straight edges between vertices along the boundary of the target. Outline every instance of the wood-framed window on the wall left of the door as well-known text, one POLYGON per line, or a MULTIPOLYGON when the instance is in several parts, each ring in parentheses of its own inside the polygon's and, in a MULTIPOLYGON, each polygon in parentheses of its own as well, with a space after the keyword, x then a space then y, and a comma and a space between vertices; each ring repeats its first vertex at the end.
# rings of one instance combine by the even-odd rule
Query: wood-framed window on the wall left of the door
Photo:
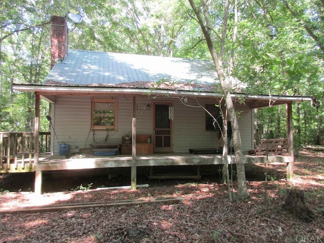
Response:
POLYGON ((92 130, 117 130, 117 100, 93 99, 92 130))

